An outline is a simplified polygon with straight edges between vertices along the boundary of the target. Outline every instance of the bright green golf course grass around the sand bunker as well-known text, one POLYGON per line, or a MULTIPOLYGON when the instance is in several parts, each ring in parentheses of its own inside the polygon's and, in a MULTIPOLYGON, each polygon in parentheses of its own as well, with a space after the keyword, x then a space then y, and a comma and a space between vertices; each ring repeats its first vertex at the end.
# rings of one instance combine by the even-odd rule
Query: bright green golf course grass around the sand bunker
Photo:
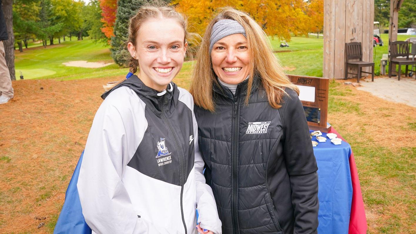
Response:
POLYGON ((103 76, 124 75, 127 69, 118 65, 101 68, 67 67, 63 62, 87 60, 88 62, 113 62, 108 45, 93 40, 66 41, 60 45, 37 47, 24 52, 16 51, 15 70, 19 79, 20 71, 24 79, 73 80, 103 76))

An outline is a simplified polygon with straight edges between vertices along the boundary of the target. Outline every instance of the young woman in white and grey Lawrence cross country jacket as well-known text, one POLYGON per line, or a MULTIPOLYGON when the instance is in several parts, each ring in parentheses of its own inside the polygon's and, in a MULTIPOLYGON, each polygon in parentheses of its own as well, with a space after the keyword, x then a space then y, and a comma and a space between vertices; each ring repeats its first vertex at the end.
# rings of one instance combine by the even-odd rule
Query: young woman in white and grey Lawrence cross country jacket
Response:
POLYGON ((186 27, 171 7, 142 7, 130 20, 131 73, 102 95, 79 172, 93 232, 221 233, 192 96, 172 82, 186 53, 186 27))

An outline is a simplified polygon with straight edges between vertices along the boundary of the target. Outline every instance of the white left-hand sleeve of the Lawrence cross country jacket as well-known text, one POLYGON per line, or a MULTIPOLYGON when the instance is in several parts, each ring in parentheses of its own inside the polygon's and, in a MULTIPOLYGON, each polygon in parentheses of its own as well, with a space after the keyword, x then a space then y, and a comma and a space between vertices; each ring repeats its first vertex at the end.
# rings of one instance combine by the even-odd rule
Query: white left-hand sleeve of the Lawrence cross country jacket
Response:
POLYGON ((121 180, 147 126, 131 126, 129 107, 118 109, 104 100, 87 139, 77 184, 85 221, 96 233, 169 233, 138 217, 121 180))

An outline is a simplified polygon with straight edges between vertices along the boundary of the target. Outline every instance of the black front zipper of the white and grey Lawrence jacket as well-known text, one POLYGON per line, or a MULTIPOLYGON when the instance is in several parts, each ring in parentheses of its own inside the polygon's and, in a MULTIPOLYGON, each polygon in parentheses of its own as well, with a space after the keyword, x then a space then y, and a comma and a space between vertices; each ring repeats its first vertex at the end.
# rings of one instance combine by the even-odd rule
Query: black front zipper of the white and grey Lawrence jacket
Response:
POLYGON ((186 229, 186 223, 185 223, 185 217, 183 215, 183 185, 185 184, 185 157, 183 156, 183 152, 181 149, 181 146, 178 142, 178 138, 176 137, 176 133, 174 132, 172 125, 169 123, 168 118, 165 115, 164 109, 163 109, 163 100, 166 100, 166 95, 163 96, 162 102, 159 103, 161 105, 161 114, 163 117, 163 120, 166 122, 166 125, 168 125, 169 131, 171 132, 173 136, 173 140, 175 142, 176 152, 178 152, 178 158, 179 158, 179 181, 181 184, 181 215, 182 215, 182 223, 183 227, 185 228, 185 234, 188 233, 188 230, 186 229))

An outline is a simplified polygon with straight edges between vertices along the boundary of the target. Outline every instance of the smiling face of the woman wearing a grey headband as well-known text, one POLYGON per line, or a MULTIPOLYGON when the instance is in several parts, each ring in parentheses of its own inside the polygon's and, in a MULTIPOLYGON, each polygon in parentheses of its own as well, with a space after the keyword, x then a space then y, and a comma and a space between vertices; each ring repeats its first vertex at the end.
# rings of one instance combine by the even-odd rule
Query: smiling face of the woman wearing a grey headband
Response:
POLYGON ((211 61, 215 74, 222 82, 239 84, 250 73, 247 38, 239 33, 219 40, 213 46, 211 61))

